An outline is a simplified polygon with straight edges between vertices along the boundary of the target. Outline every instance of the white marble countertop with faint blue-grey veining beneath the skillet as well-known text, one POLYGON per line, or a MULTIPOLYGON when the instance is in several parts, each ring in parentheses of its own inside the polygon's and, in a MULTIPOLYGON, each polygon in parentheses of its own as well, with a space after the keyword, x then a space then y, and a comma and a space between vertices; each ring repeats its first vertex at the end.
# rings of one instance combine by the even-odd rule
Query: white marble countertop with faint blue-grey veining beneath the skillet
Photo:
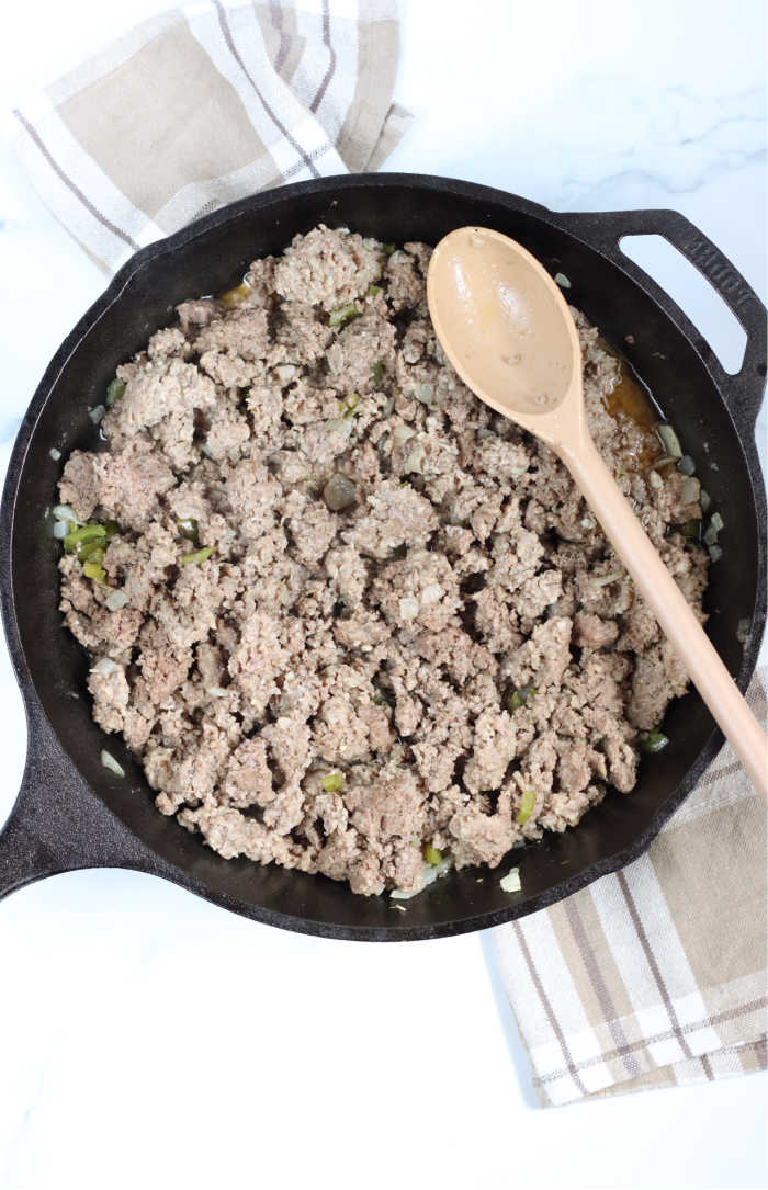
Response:
MULTIPOLYGON (((339 2, 339 0, 336 0, 339 2)), ((14 6, 0 109, 161 0, 14 6)), ((761 0, 402 4, 389 168, 557 209, 674 207, 766 290, 761 0)), ((661 257, 648 256, 661 268, 661 257)), ((0 150, 0 464, 104 278, 0 150)), ((738 336, 685 269, 714 346, 738 336)), ((730 353, 730 355, 729 355, 730 353)), ((0 652, 0 822, 24 759, 0 652)), ((768 1078, 535 1108, 488 944, 281 933, 121 871, 0 904, 0 1186, 760 1186, 768 1078)))

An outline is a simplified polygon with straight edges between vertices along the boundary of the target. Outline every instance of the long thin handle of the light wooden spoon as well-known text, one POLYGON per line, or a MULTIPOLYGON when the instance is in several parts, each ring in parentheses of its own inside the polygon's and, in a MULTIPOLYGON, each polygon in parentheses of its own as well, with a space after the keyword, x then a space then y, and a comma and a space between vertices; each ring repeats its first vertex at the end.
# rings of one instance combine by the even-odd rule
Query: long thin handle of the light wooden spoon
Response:
POLYGON ((766 737, 594 443, 585 434, 579 451, 563 449, 561 458, 753 784, 768 801, 766 737))

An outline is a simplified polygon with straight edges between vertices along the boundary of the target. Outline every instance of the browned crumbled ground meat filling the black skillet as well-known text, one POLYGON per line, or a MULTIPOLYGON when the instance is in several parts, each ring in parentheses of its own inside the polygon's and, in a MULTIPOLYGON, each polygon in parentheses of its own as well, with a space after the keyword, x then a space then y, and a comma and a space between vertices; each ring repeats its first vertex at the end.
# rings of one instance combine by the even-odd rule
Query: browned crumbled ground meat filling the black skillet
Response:
MULTIPOLYGON (((562 464, 445 362, 429 255, 319 227, 239 303, 185 302, 61 481, 119 526, 104 583, 62 557, 61 607, 158 809, 363 894, 417 888, 427 846, 495 866, 630 791, 686 688, 562 464)), ((598 445, 701 614, 692 486, 639 465, 648 432, 605 401, 620 365, 574 317, 598 445)))

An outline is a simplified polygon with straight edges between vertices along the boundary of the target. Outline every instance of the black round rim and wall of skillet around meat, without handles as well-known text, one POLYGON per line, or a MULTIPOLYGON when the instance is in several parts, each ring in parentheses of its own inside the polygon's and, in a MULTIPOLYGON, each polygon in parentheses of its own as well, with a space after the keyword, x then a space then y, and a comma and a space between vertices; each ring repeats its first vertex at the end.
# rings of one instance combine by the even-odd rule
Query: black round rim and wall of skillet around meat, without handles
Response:
MULTIPOLYGON (((107 774, 99 763, 106 739, 90 719, 85 688, 87 660, 61 627, 57 612, 58 550, 45 509, 56 502, 61 463, 50 458, 49 449, 56 445, 67 456, 74 447, 94 445, 87 407, 102 400, 115 365, 170 321, 175 303, 236 283, 250 259, 280 252, 293 234, 320 221, 349 225, 383 240, 431 243, 457 225, 485 224, 519 239, 552 273, 570 277, 569 300, 627 356, 656 395, 683 449, 697 459, 713 507, 725 521, 725 555, 712 569, 707 593, 708 631, 742 684, 753 658, 743 654, 737 625, 742 618, 763 614, 760 551, 745 550, 743 543, 758 540, 760 518, 737 431, 693 344, 631 277, 558 226, 564 217, 498 192, 386 175, 271 192, 145 250, 118 276, 106 308, 101 312, 104 302, 96 303, 99 315, 93 311, 86 315, 80 342, 46 394, 38 393, 44 405, 21 463, 12 530, 20 644, 61 745, 98 796, 194 891, 249 916, 312 933, 437 937, 529 913, 639 854, 719 746, 719 733, 698 695, 672 706, 664 728, 672 744, 661 756, 643 760, 631 795, 608 793, 575 832, 548 834, 537 845, 512 852, 495 873, 485 872, 482 882, 474 870, 451 873, 400 914, 386 897, 356 897, 324 877, 220 859, 157 813, 141 769, 115 737, 110 737, 108 747, 127 776, 118 781, 107 774), (631 346, 627 334, 633 337, 631 346), (729 546, 737 562, 729 562, 729 546), (523 891, 508 895, 501 891, 499 876, 512 863, 520 868, 523 891)), ((757 634, 761 630, 762 624, 757 634)))

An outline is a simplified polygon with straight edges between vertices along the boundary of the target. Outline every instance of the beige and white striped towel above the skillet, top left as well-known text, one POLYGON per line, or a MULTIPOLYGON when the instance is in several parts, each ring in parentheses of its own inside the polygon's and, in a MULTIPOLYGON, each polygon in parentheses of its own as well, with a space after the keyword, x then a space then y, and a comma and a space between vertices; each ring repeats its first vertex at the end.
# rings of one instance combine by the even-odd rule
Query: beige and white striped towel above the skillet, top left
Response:
POLYGON ((114 270, 255 190, 377 169, 395 0, 200 0, 144 21, 15 109, 17 154, 56 218, 114 270))

